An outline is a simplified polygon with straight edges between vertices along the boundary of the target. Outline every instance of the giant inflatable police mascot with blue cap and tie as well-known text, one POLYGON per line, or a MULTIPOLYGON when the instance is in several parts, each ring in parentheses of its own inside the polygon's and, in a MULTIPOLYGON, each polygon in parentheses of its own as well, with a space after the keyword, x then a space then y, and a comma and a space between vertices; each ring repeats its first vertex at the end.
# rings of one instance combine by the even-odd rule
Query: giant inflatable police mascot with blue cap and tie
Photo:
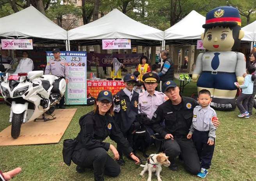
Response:
POLYGON ((206 14, 201 35, 203 46, 209 50, 197 56, 192 79, 197 89, 208 89, 213 95, 211 106, 219 110, 236 107, 235 82, 242 84, 245 56, 235 51, 244 37, 238 10, 230 6, 217 7, 206 14))

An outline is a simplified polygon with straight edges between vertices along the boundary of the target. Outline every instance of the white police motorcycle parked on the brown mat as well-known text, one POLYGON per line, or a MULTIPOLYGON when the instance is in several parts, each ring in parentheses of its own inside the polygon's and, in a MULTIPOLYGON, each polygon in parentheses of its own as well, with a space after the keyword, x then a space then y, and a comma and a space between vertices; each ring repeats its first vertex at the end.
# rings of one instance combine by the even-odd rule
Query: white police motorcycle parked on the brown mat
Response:
POLYGON ((66 81, 43 75, 43 70, 32 71, 33 61, 29 58, 15 58, 10 65, 6 72, 0 72, 0 87, 5 102, 11 107, 11 136, 16 139, 22 123, 36 121, 41 115, 44 121, 51 120, 46 119, 44 113, 53 113, 65 93, 66 81))

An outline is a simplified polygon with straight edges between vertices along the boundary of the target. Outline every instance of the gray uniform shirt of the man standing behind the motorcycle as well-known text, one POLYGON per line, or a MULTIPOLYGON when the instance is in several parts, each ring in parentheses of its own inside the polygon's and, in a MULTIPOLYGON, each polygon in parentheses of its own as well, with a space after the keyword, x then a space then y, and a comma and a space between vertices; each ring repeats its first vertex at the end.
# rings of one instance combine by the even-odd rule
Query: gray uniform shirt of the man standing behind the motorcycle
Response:
POLYGON ((50 59, 46 65, 44 74, 49 75, 50 72, 52 72, 52 75, 54 76, 65 77, 65 79, 68 79, 68 65, 66 64, 65 59, 50 59))

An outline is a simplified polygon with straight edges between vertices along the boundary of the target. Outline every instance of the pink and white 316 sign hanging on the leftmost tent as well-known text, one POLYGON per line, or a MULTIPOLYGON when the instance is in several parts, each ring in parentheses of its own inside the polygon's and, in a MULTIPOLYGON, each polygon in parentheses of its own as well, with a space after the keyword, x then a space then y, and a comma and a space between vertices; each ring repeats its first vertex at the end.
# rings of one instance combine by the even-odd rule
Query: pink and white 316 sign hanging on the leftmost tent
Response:
POLYGON ((32 39, 1 39, 2 49, 33 49, 32 39))

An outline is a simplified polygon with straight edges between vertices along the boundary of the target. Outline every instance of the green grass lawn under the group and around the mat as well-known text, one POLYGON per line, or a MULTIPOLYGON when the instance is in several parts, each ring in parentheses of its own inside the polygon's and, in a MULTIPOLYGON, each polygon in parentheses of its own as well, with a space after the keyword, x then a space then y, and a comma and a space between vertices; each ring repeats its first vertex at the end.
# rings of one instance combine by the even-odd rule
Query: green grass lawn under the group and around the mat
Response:
MULTIPOLYGON (((196 91, 196 85, 190 83, 185 87, 184 95, 191 95, 196 91)), ((70 167, 62 160, 62 144, 64 139, 74 138, 80 127, 80 116, 92 110, 87 106, 67 106, 77 108, 68 129, 59 144, 45 144, 33 146, 4 146, 0 147, 0 169, 7 171, 22 167, 23 171, 14 177, 13 181, 93 181, 93 172, 87 169, 85 173, 78 174, 76 165, 70 167)), ((254 111, 255 112, 255 111, 254 111)), ((237 117, 238 110, 217 111, 220 127, 217 129, 217 141, 212 167, 205 181, 256 181, 256 116, 249 119, 237 117)), ((0 104, 0 131, 8 127, 9 107, 0 104)), ((108 139, 107 141, 110 141, 108 139)), ((151 147, 149 153, 154 153, 151 147)), ((112 153, 110 153, 112 155, 112 153)), ((141 155, 140 155, 141 156, 141 155)), ((199 177, 188 174, 178 162, 179 170, 172 172, 164 168, 161 175, 163 181, 199 181, 199 177)), ((105 176, 106 181, 146 181, 140 177, 142 167, 136 166, 126 159, 126 164, 121 167, 121 174, 112 178, 105 176)), ((153 175, 152 181, 156 181, 153 175)))

